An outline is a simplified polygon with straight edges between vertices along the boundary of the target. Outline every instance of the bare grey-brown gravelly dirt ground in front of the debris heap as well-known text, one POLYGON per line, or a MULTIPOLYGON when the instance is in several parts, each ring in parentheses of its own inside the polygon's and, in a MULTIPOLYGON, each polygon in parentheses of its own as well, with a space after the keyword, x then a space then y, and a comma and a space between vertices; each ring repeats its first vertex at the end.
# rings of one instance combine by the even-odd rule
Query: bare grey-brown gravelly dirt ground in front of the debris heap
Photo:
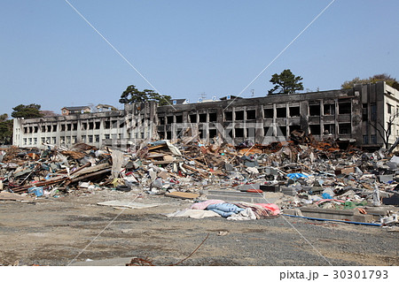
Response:
POLYGON ((101 190, 0 201, 0 264, 76 265, 114 258, 128 263, 137 257, 171 265, 207 238, 179 265, 399 265, 395 228, 283 216, 252 221, 166 217, 191 202, 164 195, 139 195, 136 202, 159 204, 142 210, 97 204, 136 197, 135 192, 101 190))

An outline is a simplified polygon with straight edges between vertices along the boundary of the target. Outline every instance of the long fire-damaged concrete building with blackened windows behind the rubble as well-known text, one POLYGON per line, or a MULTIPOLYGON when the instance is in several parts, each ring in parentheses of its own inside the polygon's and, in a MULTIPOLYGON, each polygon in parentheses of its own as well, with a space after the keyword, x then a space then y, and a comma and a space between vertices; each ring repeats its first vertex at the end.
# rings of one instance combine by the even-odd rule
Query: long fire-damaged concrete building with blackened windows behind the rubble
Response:
POLYGON ((136 103, 126 104, 121 111, 15 118, 13 145, 40 148, 85 142, 98 148, 129 147, 137 141, 176 139, 188 128, 204 141, 221 136, 236 145, 246 140, 264 144, 285 140, 293 130, 301 129, 317 140, 331 137, 378 149, 399 137, 398 112, 399 91, 379 81, 303 94, 224 97, 167 106, 136 103))

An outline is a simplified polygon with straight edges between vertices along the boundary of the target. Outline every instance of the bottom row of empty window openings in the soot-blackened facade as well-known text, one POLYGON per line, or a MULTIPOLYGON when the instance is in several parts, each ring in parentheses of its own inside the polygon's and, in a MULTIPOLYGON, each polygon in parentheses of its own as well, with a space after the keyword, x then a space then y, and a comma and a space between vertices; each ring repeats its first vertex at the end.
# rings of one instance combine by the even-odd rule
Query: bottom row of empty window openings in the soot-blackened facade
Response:
MULTIPOLYGON (((320 135, 321 134, 321 127, 320 125, 310 125, 309 126, 310 133, 314 135, 320 135)), ((290 132, 293 132, 294 130, 301 130, 301 126, 289 126, 290 132)), ((200 138, 205 138, 204 135, 204 130, 200 129, 200 138)), ((233 130, 226 130, 226 133, 229 134, 229 136, 232 138, 232 132, 233 130)), ((164 132, 158 132, 160 137, 166 138, 168 140, 172 139, 172 132, 168 131, 166 133, 164 132)), ((234 128, 234 136, 235 137, 253 137, 255 133, 255 128, 234 128), (246 131, 246 135, 244 135, 244 132, 246 131)), ((340 124, 339 125, 339 133, 340 134, 350 134, 351 133, 351 126, 350 124, 340 124)), ((176 137, 179 137, 179 134, 181 132, 176 133, 176 137)), ((335 134, 335 125, 324 125, 324 134, 335 134)), ((278 126, 277 129, 277 134, 273 133, 273 127, 263 127, 263 136, 286 136, 286 126, 278 126)), ((208 137, 209 138, 214 138, 217 136, 217 130, 216 129, 209 129, 208 131, 208 137)))

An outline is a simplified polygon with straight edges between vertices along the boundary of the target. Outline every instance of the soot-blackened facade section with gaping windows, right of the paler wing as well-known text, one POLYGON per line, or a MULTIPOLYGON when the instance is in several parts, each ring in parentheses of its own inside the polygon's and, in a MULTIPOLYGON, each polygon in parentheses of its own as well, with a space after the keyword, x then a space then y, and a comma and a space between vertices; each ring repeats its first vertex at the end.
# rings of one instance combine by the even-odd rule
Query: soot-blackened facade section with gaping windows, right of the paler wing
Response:
POLYGON ((182 129, 195 125, 206 141, 221 134, 235 142, 269 143, 286 139, 294 129, 303 129, 319 140, 357 139, 362 131, 361 115, 360 94, 353 89, 270 95, 159 107, 158 133, 174 139, 182 129))

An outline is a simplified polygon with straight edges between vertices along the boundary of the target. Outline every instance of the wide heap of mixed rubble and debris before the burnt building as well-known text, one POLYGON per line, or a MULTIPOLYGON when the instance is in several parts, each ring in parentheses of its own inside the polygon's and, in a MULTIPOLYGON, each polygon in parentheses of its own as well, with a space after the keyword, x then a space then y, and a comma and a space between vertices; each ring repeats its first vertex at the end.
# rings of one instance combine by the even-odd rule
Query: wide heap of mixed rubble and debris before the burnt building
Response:
POLYGON ((12 147, 1 156, 1 187, 33 197, 98 187, 197 202, 275 203, 294 217, 397 222, 399 156, 343 150, 300 131, 268 145, 184 138, 145 142, 129 152, 80 143, 12 147))

